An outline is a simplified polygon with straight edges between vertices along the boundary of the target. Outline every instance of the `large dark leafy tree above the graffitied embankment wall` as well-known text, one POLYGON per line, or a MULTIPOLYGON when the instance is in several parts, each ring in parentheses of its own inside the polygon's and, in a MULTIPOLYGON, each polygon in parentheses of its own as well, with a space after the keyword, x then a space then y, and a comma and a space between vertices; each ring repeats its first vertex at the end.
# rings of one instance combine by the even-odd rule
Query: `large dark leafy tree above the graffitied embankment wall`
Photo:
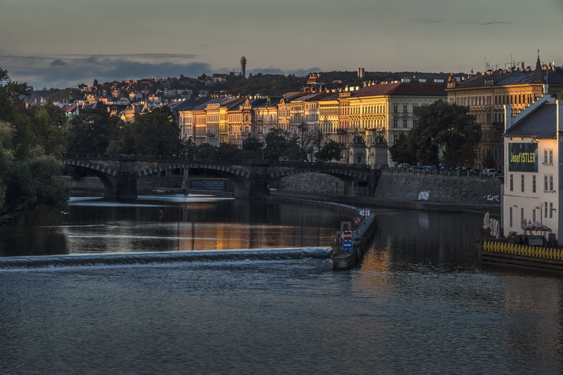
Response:
POLYGON ((391 158, 396 162, 419 160, 436 167, 441 163, 472 164, 480 127, 468 110, 443 101, 417 108, 417 127, 408 132, 407 139, 398 142, 396 147, 391 146, 391 158))

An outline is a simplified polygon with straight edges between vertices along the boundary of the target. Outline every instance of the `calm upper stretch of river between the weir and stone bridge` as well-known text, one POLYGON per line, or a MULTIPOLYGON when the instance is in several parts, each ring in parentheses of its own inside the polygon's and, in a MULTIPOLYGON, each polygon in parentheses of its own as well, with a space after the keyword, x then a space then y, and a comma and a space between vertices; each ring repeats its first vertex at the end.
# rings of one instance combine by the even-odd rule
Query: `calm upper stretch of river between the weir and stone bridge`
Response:
POLYGON ((203 196, 72 198, 68 214, 25 212, 0 227, 0 255, 330 246, 341 220, 350 220, 306 207, 203 196))

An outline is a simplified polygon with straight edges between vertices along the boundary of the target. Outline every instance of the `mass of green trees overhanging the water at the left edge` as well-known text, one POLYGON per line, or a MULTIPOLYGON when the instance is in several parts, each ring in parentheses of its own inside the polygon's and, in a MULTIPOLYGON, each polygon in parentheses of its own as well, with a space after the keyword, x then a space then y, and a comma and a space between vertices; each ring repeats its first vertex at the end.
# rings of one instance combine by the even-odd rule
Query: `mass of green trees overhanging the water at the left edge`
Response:
POLYGON ((27 94, 27 84, 12 82, 0 68, 0 222, 39 204, 63 207, 70 193, 59 177, 61 163, 44 155, 56 110, 51 117, 52 108, 25 108, 19 96, 27 94))

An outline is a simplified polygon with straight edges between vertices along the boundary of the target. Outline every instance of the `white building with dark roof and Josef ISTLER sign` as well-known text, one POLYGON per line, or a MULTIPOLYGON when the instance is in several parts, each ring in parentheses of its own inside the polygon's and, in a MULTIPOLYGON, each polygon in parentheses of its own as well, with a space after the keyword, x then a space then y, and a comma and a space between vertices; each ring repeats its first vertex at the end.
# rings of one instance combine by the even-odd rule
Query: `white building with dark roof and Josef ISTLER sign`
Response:
MULTIPOLYGON (((563 151, 558 147, 560 137, 563 141, 563 101, 544 95, 515 117, 511 112, 512 106, 505 106, 503 234, 523 234, 524 220, 540 222, 552 230, 552 240, 563 245, 559 236, 563 232, 563 197, 559 196, 563 151)), ((548 233, 537 233, 550 238, 548 233)))

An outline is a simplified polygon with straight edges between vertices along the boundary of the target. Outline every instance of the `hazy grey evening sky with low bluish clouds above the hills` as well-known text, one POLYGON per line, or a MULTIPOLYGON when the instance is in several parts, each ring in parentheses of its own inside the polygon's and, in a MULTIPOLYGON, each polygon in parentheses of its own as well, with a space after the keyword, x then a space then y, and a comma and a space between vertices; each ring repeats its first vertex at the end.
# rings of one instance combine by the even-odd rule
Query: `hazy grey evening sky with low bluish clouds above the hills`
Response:
POLYGON ((563 0, 0 0, 0 68, 34 89, 202 73, 563 65, 563 0), (487 65, 488 64, 488 65, 487 65))

